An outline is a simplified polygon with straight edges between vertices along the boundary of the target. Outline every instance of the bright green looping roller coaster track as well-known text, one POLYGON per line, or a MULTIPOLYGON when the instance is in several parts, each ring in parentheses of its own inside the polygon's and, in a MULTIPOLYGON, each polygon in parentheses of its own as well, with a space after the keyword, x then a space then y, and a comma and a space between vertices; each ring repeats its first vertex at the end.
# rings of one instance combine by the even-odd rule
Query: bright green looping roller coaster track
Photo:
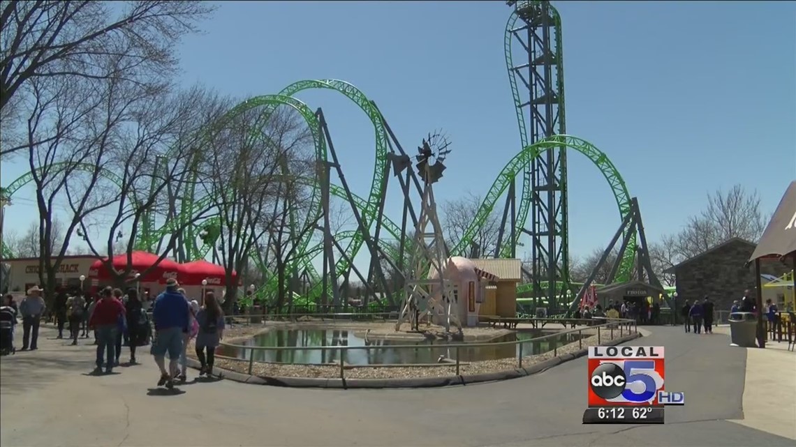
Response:
MULTIPOLYGON (((564 58, 560 45, 561 21, 558 12, 552 8, 552 6, 549 6, 549 10, 552 14, 553 25, 555 26, 556 34, 559 36, 559 38, 556 39, 556 48, 554 51, 558 60, 558 64, 556 64, 556 88, 558 94, 560 95, 560 129, 564 130, 564 58)), ((515 109, 517 112, 517 123, 520 130, 522 149, 505 165, 505 167, 498 174, 497 179, 494 181, 493 185, 487 192, 485 199, 478 208, 478 212, 474 216, 472 223, 469 227, 467 227, 465 233, 462 235, 462 238, 460 238, 459 243, 451 251, 451 255, 466 255, 466 251, 473 242, 474 236, 477 235, 478 229, 485 224, 488 216, 494 212, 495 207, 498 205, 498 199, 506 192, 509 184, 517 180, 518 175, 523 177, 523 189, 516 222, 518 226, 525 225, 529 216, 533 185, 530 182, 530 177, 522 174, 530 162, 533 161, 533 159, 539 157, 540 154, 544 154, 544 152, 548 150, 561 150, 561 157, 565 157, 566 149, 576 150, 577 152, 585 155, 597 166, 598 169, 600 169, 600 171, 603 173, 603 176, 606 178, 606 181, 611 187, 611 191, 615 196, 620 217, 624 219, 624 217, 630 212, 630 194, 627 191, 625 182, 622 180, 621 175, 618 173, 615 165, 611 162, 607 155, 603 154, 603 152, 598 150, 594 145, 583 139, 567 134, 554 135, 533 145, 529 144, 525 125, 525 111, 521 107, 522 100, 517 87, 517 79, 512 72, 512 30, 514 29, 518 18, 519 16, 517 15, 517 12, 513 11, 509 17, 509 21, 506 23, 504 49, 506 66, 509 70, 509 86, 511 87, 515 109)), ((386 194, 387 187, 387 169, 385 168, 388 165, 388 133, 384 126, 384 117, 381 115, 381 112, 378 110, 375 103, 368 99, 368 97, 362 91, 360 91, 357 87, 354 87, 352 84, 342 80, 298 81, 283 88, 283 90, 277 95, 257 96, 238 104, 236 107, 233 107, 232 110, 228 111, 218 122, 215 122, 213 125, 209 126, 208 130, 203 130, 202 132, 205 134, 205 136, 209 136, 209 133, 212 132, 212 130, 220 128, 220 126, 224 125, 224 122, 227 122, 236 115, 239 115, 244 111, 251 110, 254 107, 263 107, 263 111, 260 112, 260 117, 267 118, 268 115, 275 111, 276 107, 288 106, 295 109, 295 111, 298 111, 298 114, 302 115, 302 119, 306 122, 307 126, 310 127, 310 132, 312 133, 314 141, 316 161, 318 161, 318 163, 326 162, 328 156, 326 139, 321 133, 318 118, 314 112, 306 106, 305 103, 302 103, 302 101, 295 99, 294 97, 298 93, 310 89, 327 89, 340 92, 342 95, 345 95, 346 98, 353 101, 353 103, 356 103, 357 106, 360 107, 361 111, 364 111, 365 115, 367 115, 370 121, 373 123, 376 159, 374 162, 373 181, 369 196, 366 199, 356 196, 353 193, 351 193, 349 196, 345 189, 338 185, 330 185, 330 195, 342 198, 344 200, 352 200, 353 206, 357 207, 357 209, 361 212, 361 219, 365 229, 368 231, 372 229, 374 223, 380 221, 380 228, 384 229, 384 231, 387 231, 388 235, 392 238, 400 239, 401 229, 399 225, 392 222, 392 220, 388 219, 387 216, 381 216, 381 219, 378 219, 379 204, 384 194, 386 194)), ((201 160, 199 159, 195 159, 193 163, 199 163, 200 161, 201 160)), ((64 164, 64 168, 65 167, 66 165, 64 164)), ((78 165, 75 169, 84 171, 91 170, 93 172, 93 170, 96 169, 96 166, 78 165)), ((566 181, 566 173, 563 174, 564 181, 566 181)), ((118 185, 121 185, 122 183, 122 180, 118 176, 107 170, 102 170, 100 175, 118 185)), ((317 179, 309 177, 292 178, 297 184, 310 186, 310 189, 312 189, 310 196, 310 212, 308 213, 307 218, 314 218, 317 220, 322 213, 322 204, 320 200, 321 189, 317 179)), ((25 174, 24 176, 18 178, 7 189, 4 190, 6 192, 6 196, 13 195, 14 192, 17 192, 22 185, 25 185, 32 180, 32 173, 25 174)), ((193 216, 197 216, 198 212, 207 209, 209 206, 212 206, 214 198, 210 196, 204 196, 201 198, 197 197, 195 185, 196 182, 189 182, 189 191, 185 193, 187 200, 183 200, 181 204, 181 212, 176 220, 167 220, 162 227, 154 229, 154 217, 149 215, 146 216, 146 219, 143 220, 142 229, 139 231, 140 234, 138 237, 140 240, 136 244, 137 247, 150 249, 151 251, 151 248, 154 247, 155 241, 161 239, 164 235, 173 232, 177 228, 178 223, 185 224, 186 222, 189 222, 193 216)), ((566 219, 567 216, 564 216, 564 220, 566 219)), ((297 217, 293 212, 291 212, 291 224, 295 223, 296 221, 297 217)), ((206 220, 204 223, 201 223, 201 226, 220 228, 220 219, 213 218, 211 220, 206 220)), ((564 222, 564 228, 567 227, 568 225, 566 225, 566 222, 564 222)), ((220 231, 214 230, 211 237, 205 238, 204 241, 200 242, 196 237, 196 231, 197 228, 193 225, 186 227, 185 247, 189 259, 205 258, 212 249, 217 236, 220 234, 220 231)), ((314 270, 311 261, 312 258, 314 258, 314 254, 319 251, 319 245, 315 244, 314 246, 310 247, 312 236, 313 235, 310 232, 309 234, 305 235, 302 240, 298 241, 298 255, 295 256, 294 264, 290 266, 290 269, 291 271, 307 271, 313 278, 318 278, 318 273, 314 270)), ((519 244, 520 238, 521 231, 516 231, 513 239, 506 239, 502 246, 498 247, 501 257, 508 257, 512 251, 512 248, 517 247, 519 244)), ((345 247, 344 251, 346 256, 338 259, 338 262, 336 263, 335 270, 339 278, 351 267, 345 258, 353 259, 357 255, 358 251, 361 250, 365 239, 364 235, 359 230, 342 231, 335 235, 335 239, 337 239, 338 242, 349 240, 349 243, 345 247)), ((564 237, 563 243, 567 243, 566 237, 564 237)), ((394 247, 391 247, 389 244, 383 244, 380 247, 384 250, 386 255, 391 257, 394 261, 398 261, 397 258, 399 255, 394 247)), ((631 235, 627 250, 622 255, 622 263, 620 264, 620 268, 618 270, 617 281, 626 281, 630 279, 630 272, 634 263, 634 247, 635 235, 631 235)), ((13 255, 13 253, 10 252, 5 244, 3 244, 2 253, 3 256, 7 258, 10 258, 13 255)), ((266 266, 264 265, 265 262, 263 262, 263 259, 260 257, 261 255, 262 254, 257 253, 256 260, 259 261, 261 269, 267 270, 266 266)), ((277 278, 275 278, 275 275, 269 274, 267 271, 264 271, 264 273, 267 274, 267 280, 258 290, 257 294, 274 293, 278 289, 277 278)), ((525 292, 531 290, 532 287, 533 286, 530 284, 521 284, 517 289, 518 292, 525 292)), ((312 286, 310 286, 310 289, 307 290, 305 295, 300 298, 306 301, 314 301, 322 293, 321 289, 321 283, 316 281, 312 286)), ((295 295, 295 297, 297 296, 295 295)))

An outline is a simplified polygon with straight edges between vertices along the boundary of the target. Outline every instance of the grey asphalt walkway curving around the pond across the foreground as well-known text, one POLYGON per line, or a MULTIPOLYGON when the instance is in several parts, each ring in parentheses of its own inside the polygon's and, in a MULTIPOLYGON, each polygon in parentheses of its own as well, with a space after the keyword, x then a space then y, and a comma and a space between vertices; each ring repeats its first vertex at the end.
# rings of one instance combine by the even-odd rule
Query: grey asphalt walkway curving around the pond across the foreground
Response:
POLYGON ((431 390, 297 390, 222 380, 164 393, 154 387, 150 357, 94 377, 92 346, 66 346, 43 329, 38 351, 0 360, 0 445, 796 445, 741 425, 766 416, 743 407, 746 350, 719 334, 651 331, 632 344, 664 345, 667 388, 688 398, 666 410, 664 426, 581 425, 584 359, 522 379, 431 390))

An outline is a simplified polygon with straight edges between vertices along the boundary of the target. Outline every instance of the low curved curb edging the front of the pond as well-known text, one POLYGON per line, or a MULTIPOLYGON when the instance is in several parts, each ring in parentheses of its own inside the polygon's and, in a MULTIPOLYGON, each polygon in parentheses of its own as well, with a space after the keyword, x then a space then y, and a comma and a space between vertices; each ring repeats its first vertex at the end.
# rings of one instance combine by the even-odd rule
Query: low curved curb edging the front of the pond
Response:
MULTIPOLYGON (((616 340, 611 340, 603 346, 615 346, 630 340, 634 340, 642 336, 640 332, 623 336, 616 340)), ((474 375, 458 375, 447 377, 417 377, 408 379, 319 379, 312 377, 258 377, 255 375, 248 375, 237 371, 232 371, 223 368, 215 368, 217 375, 224 379, 229 379, 240 383, 252 383, 256 385, 270 385, 272 387, 293 387, 293 388, 329 388, 329 389, 378 389, 378 388, 431 388, 431 387, 449 387, 453 385, 466 385, 469 383, 483 383, 483 382, 496 382, 498 380, 517 379, 525 377, 526 375, 537 374, 541 371, 546 371, 551 367, 555 367, 564 362, 575 360, 578 357, 586 355, 588 348, 580 349, 579 351, 562 356, 553 357, 552 359, 543 360, 539 363, 534 363, 529 367, 518 367, 515 369, 505 371, 494 371, 483 374, 474 375), (219 374, 220 373, 220 374, 219 374)), ((187 364, 189 367, 198 369, 200 363, 197 360, 188 358, 187 364)))

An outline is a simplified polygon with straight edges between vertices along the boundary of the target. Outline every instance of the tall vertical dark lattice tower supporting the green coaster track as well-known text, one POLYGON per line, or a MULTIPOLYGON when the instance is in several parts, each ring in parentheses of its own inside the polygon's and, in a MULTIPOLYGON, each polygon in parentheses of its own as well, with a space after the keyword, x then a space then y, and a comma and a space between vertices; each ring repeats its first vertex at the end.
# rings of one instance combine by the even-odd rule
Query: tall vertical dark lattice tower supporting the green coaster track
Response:
MULTIPOLYGON (((506 3, 514 7, 513 14, 522 23, 517 28, 506 29, 506 41, 519 41, 525 52, 524 59, 515 64, 511 49, 507 48, 506 61, 521 139, 524 145, 533 145, 554 134, 567 133, 560 16, 548 1, 511 0, 506 3), (518 85, 525 88, 520 91, 518 85)), ((521 209, 525 208, 525 200, 530 201, 531 208, 534 294, 547 297, 551 311, 556 312, 558 295, 566 296, 569 283, 566 150, 560 147, 533 158, 523 181, 521 209), (546 290, 542 290, 544 281, 546 290), (556 282, 563 284, 560 290, 556 290, 556 282)))

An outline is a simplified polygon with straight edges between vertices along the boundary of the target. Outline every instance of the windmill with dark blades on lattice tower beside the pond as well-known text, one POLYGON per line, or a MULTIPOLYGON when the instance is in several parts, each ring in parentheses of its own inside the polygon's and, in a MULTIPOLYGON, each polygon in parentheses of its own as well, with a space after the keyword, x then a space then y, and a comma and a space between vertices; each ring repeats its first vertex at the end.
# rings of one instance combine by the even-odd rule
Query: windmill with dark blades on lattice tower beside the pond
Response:
POLYGON ((443 136, 429 134, 428 138, 423 139, 423 146, 417 148, 416 168, 423 181, 423 201, 412 244, 412 258, 408 262, 408 270, 404 272, 404 303, 396 322, 396 331, 407 320, 412 328, 417 329, 419 319, 428 313, 442 317, 446 332, 450 332, 451 322, 458 327, 459 332, 462 330, 453 285, 445 278, 448 256, 442 227, 437 219, 432 187, 443 177, 443 161, 451 152, 448 146, 450 143, 443 136), (428 278, 434 272, 437 278, 428 278), (421 314, 423 304, 426 309, 421 314))

